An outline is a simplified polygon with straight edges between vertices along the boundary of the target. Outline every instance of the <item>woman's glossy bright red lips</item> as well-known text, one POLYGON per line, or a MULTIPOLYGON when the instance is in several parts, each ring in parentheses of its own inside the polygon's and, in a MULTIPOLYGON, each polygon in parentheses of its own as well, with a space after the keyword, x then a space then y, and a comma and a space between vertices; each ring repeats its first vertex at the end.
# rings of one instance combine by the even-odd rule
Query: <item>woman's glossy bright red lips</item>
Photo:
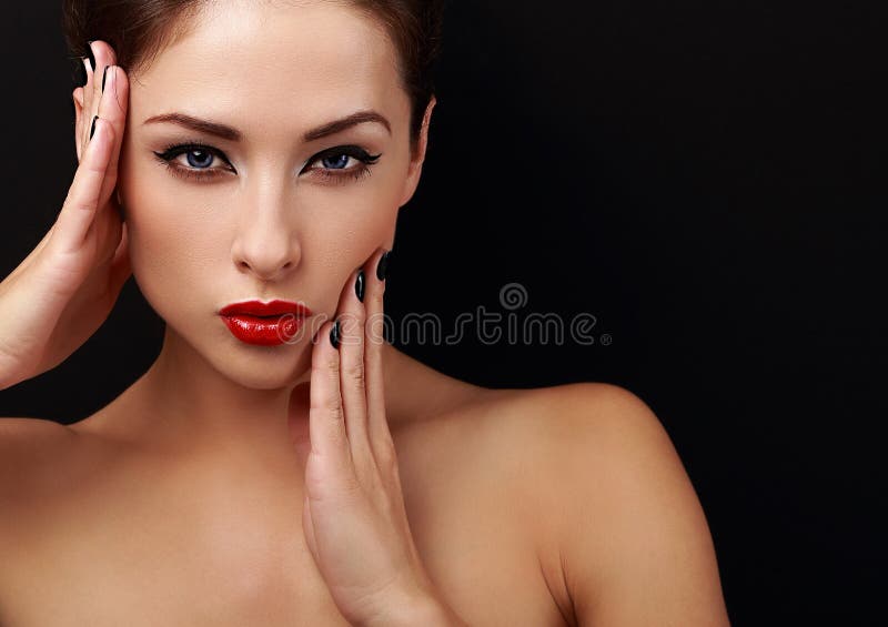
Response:
POLYGON ((292 301, 244 301, 222 307, 219 315, 238 340, 275 346, 293 341, 312 311, 292 301))

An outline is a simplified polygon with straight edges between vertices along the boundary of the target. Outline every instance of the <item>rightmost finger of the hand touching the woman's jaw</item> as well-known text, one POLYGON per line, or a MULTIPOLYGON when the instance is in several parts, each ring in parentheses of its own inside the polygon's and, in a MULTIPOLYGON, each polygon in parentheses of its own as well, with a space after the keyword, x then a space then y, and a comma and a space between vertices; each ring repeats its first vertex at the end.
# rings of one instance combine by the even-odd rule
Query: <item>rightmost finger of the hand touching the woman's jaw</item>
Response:
POLYGON ((395 446, 385 414, 385 377, 382 361, 383 343, 385 342, 383 334, 385 328, 383 296, 385 294, 385 272, 389 265, 389 252, 380 250, 371 260, 370 272, 367 272, 366 295, 364 297, 367 315, 367 338, 364 348, 366 353, 364 362, 367 380, 367 428, 370 431, 370 442, 373 446, 373 455, 381 468, 394 469, 396 466, 395 446))

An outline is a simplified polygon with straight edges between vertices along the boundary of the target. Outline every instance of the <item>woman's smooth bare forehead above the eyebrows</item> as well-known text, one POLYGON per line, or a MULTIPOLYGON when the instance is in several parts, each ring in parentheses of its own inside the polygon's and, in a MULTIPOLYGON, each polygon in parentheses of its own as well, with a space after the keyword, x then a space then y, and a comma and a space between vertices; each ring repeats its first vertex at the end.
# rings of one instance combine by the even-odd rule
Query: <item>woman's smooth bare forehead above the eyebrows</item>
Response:
POLYGON ((131 93, 141 119, 193 111, 244 127, 290 119, 294 130, 357 109, 396 118, 406 99, 384 28, 337 1, 208 2, 131 93))

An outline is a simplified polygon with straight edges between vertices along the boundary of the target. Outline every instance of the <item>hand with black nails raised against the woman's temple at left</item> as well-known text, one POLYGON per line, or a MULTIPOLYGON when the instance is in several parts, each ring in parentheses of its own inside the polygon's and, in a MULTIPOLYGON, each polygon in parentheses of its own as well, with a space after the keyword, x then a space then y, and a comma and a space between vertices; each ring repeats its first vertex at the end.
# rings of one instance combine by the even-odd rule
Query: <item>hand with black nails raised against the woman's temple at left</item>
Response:
POLYGON ((77 351, 108 318, 132 273, 114 194, 129 80, 110 45, 93 41, 91 48, 97 67, 83 60, 87 84, 72 93, 79 165, 68 196, 49 232, 0 283, 0 390, 77 351))

